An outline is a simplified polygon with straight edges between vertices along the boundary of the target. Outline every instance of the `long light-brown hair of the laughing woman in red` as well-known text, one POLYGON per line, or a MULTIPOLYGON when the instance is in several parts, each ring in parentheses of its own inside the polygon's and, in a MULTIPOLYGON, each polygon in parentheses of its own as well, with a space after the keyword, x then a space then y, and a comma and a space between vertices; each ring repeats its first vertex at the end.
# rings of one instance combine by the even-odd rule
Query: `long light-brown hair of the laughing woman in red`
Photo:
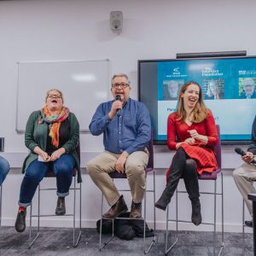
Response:
POLYGON ((199 98, 198 98, 198 102, 196 102, 195 104, 195 108, 192 110, 191 112, 191 116, 192 116, 192 123, 198 124, 201 123, 204 119, 207 118, 207 107, 205 105, 205 103, 203 102, 203 97, 202 97, 202 93, 201 93, 201 86, 200 84, 194 82, 194 81, 189 81, 185 84, 183 84, 183 86, 181 87, 181 89, 179 90, 179 96, 178 96, 178 103, 177 103, 177 117, 178 120, 184 121, 186 118, 186 111, 184 108, 184 102, 183 102, 183 93, 185 92, 185 90, 187 90, 187 88, 189 87, 190 84, 195 84, 199 87, 199 98))

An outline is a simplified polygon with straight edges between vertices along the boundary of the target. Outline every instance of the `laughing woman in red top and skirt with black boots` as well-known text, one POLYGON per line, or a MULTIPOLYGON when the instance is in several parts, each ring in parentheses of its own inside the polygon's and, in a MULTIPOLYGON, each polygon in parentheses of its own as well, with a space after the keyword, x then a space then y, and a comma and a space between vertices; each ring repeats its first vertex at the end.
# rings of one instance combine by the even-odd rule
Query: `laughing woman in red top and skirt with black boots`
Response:
POLYGON ((198 175, 218 168, 213 152, 217 143, 215 121, 203 102, 201 86, 193 81, 183 84, 177 111, 171 113, 167 121, 167 145, 177 152, 166 173, 166 189, 155 207, 166 210, 179 179, 183 177, 192 204, 191 220, 195 225, 201 224, 198 175))

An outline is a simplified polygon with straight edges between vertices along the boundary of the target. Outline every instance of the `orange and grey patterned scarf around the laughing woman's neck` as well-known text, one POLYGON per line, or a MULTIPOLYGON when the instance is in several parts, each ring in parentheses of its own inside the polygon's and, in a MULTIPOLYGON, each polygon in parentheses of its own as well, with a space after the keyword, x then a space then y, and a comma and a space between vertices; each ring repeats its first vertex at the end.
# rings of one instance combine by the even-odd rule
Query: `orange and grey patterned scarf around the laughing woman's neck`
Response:
POLYGON ((59 136, 61 122, 66 120, 68 117, 69 109, 66 107, 61 108, 61 113, 56 115, 50 115, 49 109, 44 106, 41 109, 41 114, 46 123, 49 124, 49 137, 51 137, 51 143, 58 148, 59 147, 59 136))

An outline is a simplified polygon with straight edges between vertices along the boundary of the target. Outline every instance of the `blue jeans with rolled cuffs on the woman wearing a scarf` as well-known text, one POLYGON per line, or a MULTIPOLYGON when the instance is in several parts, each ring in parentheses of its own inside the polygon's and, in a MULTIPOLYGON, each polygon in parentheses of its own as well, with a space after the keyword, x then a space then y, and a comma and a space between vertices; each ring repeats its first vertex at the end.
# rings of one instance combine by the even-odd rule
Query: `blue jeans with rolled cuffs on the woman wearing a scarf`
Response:
POLYGON ((20 207, 28 207, 31 205, 38 184, 47 173, 49 165, 51 165, 55 172, 57 195, 61 197, 68 195, 73 178, 73 167, 75 165, 73 156, 71 154, 62 154, 58 160, 49 163, 34 160, 30 166, 28 166, 20 186, 20 207))

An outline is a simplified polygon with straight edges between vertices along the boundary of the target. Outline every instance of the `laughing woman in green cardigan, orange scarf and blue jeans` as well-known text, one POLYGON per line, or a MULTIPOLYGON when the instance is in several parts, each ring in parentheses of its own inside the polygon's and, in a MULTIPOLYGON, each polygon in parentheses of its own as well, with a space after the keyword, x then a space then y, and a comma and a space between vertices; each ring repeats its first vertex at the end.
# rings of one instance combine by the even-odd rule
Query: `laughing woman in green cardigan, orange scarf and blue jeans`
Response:
POLYGON ((65 196, 69 193, 74 166, 78 170, 78 182, 82 182, 79 156, 76 152, 79 145, 79 122, 76 116, 63 106, 63 102, 61 90, 49 90, 46 93, 44 108, 32 112, 27 120, 25 144, 30 153, 22 166, 25 176, 20 186, 20 207, 15 222, 18 232, 26 229, 26 207, 31 205, 38 184, 49 166, 56 176, 56 215, 66 213, 65 196))

